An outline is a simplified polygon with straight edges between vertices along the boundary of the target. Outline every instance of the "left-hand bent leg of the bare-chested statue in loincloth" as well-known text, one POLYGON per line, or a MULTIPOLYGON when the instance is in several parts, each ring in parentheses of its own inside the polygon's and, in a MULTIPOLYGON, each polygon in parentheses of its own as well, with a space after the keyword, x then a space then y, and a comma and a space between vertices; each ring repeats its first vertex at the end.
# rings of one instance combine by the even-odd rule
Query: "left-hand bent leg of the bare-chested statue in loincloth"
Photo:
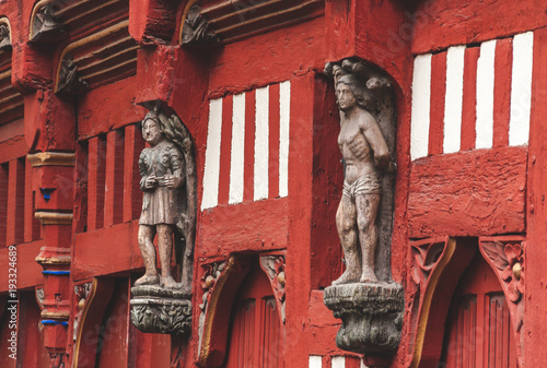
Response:
POLYGON ((336 212, 336 227, 340 237, 344 258, 346 259, 346 271, 333 282, 333 285, 357 282, 361 276, 356 221, 357 214, 353 201, 349 197, 342 195, 336 212))

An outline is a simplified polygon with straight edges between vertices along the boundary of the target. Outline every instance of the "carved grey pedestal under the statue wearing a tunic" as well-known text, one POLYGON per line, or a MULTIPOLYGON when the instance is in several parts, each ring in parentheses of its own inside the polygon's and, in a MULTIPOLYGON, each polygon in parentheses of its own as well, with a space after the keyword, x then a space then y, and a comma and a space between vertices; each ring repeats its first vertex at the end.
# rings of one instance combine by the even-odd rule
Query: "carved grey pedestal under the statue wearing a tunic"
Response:
POLYGON ((188 335, 191 294, 159 286, 131 287, 131 321, 141 332, 188 335))

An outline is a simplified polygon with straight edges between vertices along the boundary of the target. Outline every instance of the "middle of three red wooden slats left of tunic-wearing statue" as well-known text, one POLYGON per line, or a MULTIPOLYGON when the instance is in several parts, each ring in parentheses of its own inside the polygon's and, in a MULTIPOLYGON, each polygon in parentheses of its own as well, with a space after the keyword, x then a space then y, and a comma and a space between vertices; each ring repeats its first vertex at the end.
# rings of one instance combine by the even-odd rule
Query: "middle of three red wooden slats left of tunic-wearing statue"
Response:
POLYGON ((119 224, 124 216, 125 135, 120 130, 106 134, 104 226, 119 224))

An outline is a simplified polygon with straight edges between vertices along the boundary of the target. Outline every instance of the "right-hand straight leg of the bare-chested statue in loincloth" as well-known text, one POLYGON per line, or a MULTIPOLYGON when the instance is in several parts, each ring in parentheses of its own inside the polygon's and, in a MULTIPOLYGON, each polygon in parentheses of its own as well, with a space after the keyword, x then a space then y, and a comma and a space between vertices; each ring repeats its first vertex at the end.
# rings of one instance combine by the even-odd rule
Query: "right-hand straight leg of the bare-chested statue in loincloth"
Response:
POLYGON ((376 215, 380 205, 380 194, 356 195, 357 227, 362 254, 362 283, 376 283, 375 254, 377 247, 376 215))

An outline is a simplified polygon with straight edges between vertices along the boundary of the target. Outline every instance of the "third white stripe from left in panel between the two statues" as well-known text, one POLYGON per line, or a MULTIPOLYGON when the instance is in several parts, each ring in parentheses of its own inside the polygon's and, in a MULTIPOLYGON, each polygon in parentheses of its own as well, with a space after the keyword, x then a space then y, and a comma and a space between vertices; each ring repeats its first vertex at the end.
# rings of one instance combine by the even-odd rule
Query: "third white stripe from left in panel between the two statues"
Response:
POLYGON ((256 90, 254 200, 268 198, 269 167, 269 86, 256 90))

